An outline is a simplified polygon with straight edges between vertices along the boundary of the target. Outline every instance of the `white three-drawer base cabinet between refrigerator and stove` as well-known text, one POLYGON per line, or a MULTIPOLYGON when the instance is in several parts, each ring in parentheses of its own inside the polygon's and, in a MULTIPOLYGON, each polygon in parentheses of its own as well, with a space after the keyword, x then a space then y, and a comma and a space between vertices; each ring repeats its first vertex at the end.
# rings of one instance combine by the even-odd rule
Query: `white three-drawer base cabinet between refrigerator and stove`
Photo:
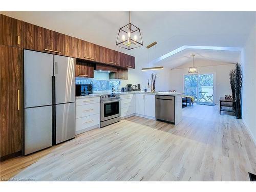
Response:
POLYGON ((76 98, 76 134, 100 127, 100 98, 76 98))

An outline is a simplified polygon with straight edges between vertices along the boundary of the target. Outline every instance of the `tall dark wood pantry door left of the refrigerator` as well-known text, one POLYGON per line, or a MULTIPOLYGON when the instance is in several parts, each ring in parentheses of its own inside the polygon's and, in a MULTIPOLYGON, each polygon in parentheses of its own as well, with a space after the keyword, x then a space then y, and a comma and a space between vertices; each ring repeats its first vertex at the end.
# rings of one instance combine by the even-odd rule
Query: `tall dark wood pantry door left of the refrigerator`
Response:
POLYGON ((0 157, 22 150, 22 50, 0 45, 0 157))

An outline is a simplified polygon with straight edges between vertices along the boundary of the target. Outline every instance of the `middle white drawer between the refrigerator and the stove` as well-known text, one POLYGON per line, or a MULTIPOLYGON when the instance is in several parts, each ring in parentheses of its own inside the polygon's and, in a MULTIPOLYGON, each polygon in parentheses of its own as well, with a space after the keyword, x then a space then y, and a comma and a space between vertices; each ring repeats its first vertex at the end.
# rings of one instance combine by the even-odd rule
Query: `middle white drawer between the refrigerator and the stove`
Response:
POLYGON ((100 113, 100 103, 84 104, 76 106, 76 118, 87 117, 100 113))

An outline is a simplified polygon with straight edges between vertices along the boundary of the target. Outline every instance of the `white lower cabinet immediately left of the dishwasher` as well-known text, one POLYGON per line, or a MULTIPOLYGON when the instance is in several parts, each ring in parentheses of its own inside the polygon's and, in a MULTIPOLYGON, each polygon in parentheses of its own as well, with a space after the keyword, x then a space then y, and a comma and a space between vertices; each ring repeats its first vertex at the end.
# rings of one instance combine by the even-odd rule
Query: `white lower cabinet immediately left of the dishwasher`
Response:
POLYGON ((155 118, 155 95, 135 94, 135 113, 155 118))

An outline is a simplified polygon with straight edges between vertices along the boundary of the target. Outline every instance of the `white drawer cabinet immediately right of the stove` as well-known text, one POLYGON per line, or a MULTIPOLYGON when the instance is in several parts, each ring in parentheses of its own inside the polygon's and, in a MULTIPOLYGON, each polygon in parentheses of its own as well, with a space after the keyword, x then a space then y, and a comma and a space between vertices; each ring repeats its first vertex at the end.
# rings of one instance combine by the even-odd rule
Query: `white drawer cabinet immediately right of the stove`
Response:
POLYGON ((134 94, 121 95, 121 118, 131 116, 135 112, 134 94))

